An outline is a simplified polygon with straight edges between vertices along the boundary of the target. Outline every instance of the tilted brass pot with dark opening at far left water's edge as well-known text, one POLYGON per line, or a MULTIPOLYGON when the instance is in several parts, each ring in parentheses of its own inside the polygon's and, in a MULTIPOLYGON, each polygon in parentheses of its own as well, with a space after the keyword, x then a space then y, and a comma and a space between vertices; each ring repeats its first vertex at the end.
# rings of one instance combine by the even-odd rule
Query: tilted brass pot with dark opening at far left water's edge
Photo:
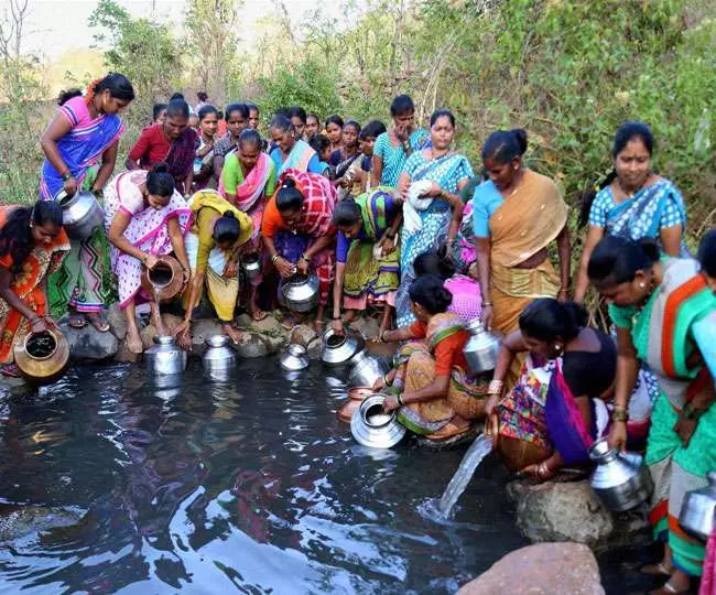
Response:
POLYGON ((69 344, 58 329, 28 333, 13 346, 14 361, 24 378, 34 385, 57 380, 69 364, 69 344))

